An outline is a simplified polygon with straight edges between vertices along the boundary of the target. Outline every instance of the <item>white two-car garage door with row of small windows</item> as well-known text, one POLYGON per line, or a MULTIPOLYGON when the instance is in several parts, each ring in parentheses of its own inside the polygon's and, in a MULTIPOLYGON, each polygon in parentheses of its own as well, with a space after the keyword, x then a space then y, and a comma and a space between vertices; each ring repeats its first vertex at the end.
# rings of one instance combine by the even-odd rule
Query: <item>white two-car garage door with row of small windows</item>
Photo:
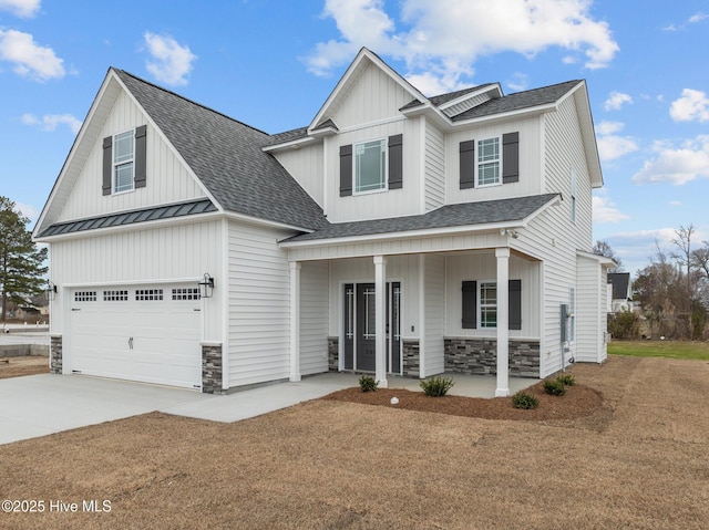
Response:
POLYGON ((194 283, 74 289, 71 370, 199 388, 199 310, 194 283))

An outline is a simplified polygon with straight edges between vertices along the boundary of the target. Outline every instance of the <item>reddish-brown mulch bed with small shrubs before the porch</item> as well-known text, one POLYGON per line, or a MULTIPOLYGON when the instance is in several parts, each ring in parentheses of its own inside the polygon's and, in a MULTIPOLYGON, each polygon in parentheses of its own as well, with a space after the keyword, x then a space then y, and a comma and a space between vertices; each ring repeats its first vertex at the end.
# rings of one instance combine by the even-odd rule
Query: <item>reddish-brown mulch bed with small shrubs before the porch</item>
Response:
POLYGON ((578 384, 567 386, 565 395, 552 396, 544 392, 542 385, 543 382, 540 382, 525 391, 540 401, 540 406, 530 411, 514 408, 511 397, 491 399, 452 395, 431 397, 422 392, 402 388, 379 388, 376 392, 362 392, 358 386, 335 392, 322 399, 448 414, 451 416, 516 420, 576 419, 592 415, 603 405, 602 393, 588 386, 578 384), (392 405, 392 397, 397 397, 399 403, 392 405))

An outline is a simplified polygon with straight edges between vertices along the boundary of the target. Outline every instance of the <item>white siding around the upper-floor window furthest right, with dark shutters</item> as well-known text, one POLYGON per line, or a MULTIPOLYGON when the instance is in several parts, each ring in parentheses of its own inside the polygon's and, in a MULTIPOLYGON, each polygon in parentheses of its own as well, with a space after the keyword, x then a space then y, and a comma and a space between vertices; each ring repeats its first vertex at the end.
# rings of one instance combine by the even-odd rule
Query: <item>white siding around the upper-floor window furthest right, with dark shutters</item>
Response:
MULTIPOLYGON (((530 117, 511 122, 477 125, 465 131, 445 135, 445 202, 476 202, 480 200, 504 199, 537 195, 542 191, 540 175, 540 117, 530 117), (486 186, 470 189, 460 187, 460 144, 470 139, 481 141, 520 133, 520 181, 500 186, 486 186)), ((501 146, 502 147, 502 146, 501 146)), ((477 146, 475 146, 477 149, 477 146)), ((477 185, 477 183, 475 183, 477 185)))

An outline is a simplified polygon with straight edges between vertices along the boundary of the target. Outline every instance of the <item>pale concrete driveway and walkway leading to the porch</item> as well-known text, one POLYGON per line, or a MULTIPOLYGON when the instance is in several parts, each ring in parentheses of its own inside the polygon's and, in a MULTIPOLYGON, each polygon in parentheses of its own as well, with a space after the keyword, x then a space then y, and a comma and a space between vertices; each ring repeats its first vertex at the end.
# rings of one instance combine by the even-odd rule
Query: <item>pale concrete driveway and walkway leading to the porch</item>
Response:
POLYGON ((214 422, 259 416, 357 385, 356 377, 307 377, 227 396, 89 377, 31 375, 0 380, 0 444, 160 411, 214 422))

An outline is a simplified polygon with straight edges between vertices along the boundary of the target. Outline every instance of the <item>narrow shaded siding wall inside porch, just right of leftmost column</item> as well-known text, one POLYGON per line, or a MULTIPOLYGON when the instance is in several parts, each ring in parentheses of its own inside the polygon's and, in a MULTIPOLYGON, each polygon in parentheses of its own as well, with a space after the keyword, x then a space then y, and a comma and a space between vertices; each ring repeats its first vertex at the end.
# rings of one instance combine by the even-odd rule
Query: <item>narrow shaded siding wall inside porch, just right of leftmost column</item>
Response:
MULTIPOLYGON (((300 375, 328 371, 328 262, 300 269, 300 375)), ((335 313, 337 314, 337 313, 335 313)))

